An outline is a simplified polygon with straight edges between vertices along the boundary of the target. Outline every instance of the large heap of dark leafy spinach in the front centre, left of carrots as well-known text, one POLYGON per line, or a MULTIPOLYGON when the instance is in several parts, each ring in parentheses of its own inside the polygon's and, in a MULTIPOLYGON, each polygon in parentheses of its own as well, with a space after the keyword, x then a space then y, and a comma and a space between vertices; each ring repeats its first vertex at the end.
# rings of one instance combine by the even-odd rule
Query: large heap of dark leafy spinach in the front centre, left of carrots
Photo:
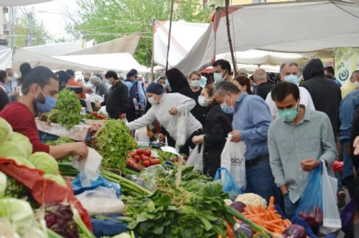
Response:
POLYGON ((222 185, 195 173, 193 167, 186 167, 182 175, 178 190, 174 170, 157 179, 152 195, 124 198, 128 229, 148 238, 226 237, 223 215, 228 194, 222 185))

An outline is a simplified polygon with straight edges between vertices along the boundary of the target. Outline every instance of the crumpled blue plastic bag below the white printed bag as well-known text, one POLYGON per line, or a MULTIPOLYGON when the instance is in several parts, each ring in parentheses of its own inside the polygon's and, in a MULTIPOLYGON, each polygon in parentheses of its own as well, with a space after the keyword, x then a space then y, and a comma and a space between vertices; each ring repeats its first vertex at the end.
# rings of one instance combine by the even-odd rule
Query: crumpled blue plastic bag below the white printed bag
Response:
POLYGON ((236 181, 234 181, 232 175, 225 167, 220 167, 217 169, 214 181, 220 180, 223 191, 229 194, 229 198, 235 200, 239 194, 242 194, 243 191, 239 188, 236 181), (223 170, 223 171, 222 171, 223 170))

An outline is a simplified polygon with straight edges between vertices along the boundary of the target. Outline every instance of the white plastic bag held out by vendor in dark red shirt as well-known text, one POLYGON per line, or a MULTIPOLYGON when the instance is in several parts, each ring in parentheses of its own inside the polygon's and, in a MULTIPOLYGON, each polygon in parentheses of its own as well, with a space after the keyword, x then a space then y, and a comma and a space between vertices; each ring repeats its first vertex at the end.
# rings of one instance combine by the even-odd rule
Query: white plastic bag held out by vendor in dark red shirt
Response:
POLYGON ((78 160, 79 156, 75 156, 71 161, 72 166, 80 171, 80 181, 83 187, 89 187, 91 180, 97 180, 99 176, 99 168, 102 161, 102 156, 97 151, 88 147, 87 157, 83 160, 78 160))

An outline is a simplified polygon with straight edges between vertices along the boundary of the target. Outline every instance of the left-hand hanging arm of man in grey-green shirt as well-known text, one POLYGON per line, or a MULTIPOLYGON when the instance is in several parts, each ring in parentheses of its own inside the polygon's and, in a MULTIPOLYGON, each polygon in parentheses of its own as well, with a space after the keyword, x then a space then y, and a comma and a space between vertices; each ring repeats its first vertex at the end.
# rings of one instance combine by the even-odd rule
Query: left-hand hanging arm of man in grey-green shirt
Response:
POLYGON ((280 159, 279 149, 275 141, 273 128, 269 127, 268 130, 268 149, 269 149, 269 163, 274 176, 275 184, 281 190, 282 194, 288 193, 286 185, 283 164, 280 159))

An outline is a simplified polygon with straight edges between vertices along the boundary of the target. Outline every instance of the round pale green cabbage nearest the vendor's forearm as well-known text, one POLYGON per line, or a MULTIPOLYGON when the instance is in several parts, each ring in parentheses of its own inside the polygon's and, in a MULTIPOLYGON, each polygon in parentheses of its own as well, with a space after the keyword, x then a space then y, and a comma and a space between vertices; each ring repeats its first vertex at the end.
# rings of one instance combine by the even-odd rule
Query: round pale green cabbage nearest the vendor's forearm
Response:
POLYGON ((44 171, 45 174, 59 174, 59 165, 57 161, 45 152, 36 152, 28 157, 28 160, 36 167, 36 169, 44 171))

